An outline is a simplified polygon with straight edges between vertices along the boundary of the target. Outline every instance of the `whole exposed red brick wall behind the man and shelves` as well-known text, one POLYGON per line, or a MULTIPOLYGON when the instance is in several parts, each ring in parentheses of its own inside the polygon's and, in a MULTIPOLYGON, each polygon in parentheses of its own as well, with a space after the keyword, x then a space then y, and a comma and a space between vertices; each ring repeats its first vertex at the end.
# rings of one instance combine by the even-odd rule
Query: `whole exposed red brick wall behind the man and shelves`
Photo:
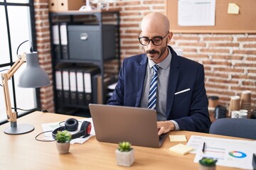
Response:
MULTIPOLYGON (((41 64, 51 75, 48 1, 36 0, 38 52, 41 64)), ((110 8, 120 9, 121 57, 143 52, 137 40, 140 21, 151 11, 165 12, 164 0, 116 0, 110 8)), ((188 34, 174 33, 170 45, 182 49, 183 56, 205 67, 208 96, 219 96, 220 104, 228 107, 230 96, 252 91, 256 106, 256 34, 188 34)), ((53 89, 41 89, 42 106, 53 109, 53 89)))

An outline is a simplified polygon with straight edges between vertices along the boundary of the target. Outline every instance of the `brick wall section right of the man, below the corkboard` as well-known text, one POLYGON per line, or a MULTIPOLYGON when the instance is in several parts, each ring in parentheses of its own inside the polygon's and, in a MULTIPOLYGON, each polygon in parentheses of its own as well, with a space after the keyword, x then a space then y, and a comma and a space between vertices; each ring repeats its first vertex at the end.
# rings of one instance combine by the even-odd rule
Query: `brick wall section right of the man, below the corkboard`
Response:
POLYGON ((256 35, 175 34, 172 43, 204 65, 207 94, 219 96, 220 104, 228 106, 230 96, 243 90, 252 91, 255 103, 256 35))

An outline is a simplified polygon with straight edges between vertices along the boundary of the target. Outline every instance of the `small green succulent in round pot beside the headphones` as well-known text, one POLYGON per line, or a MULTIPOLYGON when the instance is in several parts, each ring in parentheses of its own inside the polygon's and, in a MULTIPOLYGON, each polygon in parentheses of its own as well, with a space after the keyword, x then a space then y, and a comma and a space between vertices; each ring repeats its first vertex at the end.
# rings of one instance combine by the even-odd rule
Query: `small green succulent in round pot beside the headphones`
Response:
POLYGON ((68 154, 70 148, 70 140, 72 140, 68 130, 58 131, 56 134, 56 146, 59 154, 68 154))

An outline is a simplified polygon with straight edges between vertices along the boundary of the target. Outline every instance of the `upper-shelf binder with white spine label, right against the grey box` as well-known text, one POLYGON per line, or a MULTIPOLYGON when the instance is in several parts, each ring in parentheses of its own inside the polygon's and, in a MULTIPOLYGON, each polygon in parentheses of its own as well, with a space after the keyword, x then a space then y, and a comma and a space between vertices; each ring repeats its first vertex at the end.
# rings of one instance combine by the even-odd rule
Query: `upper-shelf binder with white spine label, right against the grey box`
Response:
POLYGON ((68 32, 67 23, 60 24, 60 45, 62 59, 68 60, 68 32))

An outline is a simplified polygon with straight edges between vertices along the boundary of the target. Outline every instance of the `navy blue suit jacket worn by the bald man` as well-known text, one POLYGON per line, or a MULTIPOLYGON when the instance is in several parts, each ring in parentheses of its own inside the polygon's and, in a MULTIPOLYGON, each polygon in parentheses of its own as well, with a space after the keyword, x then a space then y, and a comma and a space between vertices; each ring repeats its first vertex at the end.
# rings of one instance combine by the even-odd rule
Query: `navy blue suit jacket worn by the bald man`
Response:
MULTIPOLYGON (((166 119, 175 120, 180 130, 208 132, 210 119, 203 65, 178 56, 171 47, 169 49, 172 58, 167 87, 166 119), (184 89, 190 90, 174 95, 184 89)), ((117 86, 108 104, 139 107, 147 62, 145 54, 124 59, 117 86)))

